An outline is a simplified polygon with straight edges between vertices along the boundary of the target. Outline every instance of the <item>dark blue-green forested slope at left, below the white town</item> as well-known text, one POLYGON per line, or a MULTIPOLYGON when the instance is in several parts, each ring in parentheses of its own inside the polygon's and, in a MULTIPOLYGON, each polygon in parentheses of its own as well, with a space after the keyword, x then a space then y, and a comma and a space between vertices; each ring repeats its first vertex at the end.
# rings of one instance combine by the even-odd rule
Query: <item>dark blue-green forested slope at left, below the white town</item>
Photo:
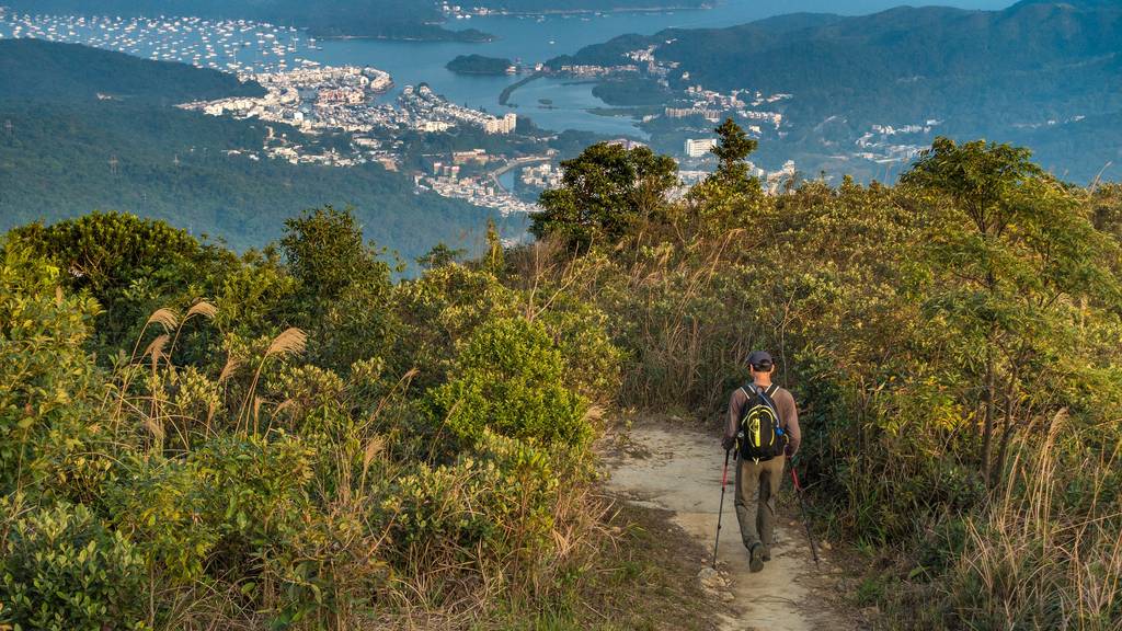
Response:
MULTIPOLYGON (((243 249, 277 238, 283 221, 301 210, 332 203, 353 205, 369 238, 412 260, 439 241, 477 247, 480 222, 489 217, 462 202, 415 194, 407 177, 378 165, 250 159, 242 154, 260 152, 265 125, 172 107, 260 90, 229 75, 18 40, 0 42, 0 83, 13 90, 0 94, 0 120, 11 124, 0 130, 3 229, 125 210, 243 249), (57 70, 62 80, 35 80, 43 68, 57 70)), ((349 143, 272 127, 293 144, 349 143)))

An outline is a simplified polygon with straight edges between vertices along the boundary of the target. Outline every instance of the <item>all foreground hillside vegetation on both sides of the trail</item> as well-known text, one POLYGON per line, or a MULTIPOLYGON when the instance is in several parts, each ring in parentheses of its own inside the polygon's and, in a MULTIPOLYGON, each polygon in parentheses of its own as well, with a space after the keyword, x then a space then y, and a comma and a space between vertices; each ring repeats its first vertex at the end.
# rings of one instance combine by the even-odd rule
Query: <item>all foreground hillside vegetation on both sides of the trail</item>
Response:
POLYGON ((939 139, 898 186, 769 196, 718 132, 682 201, 672 159, 595 145, 536 243, 399 282, 330 208, 246 255, 9 232, 0 625, 671 624, 590 446, 619 408, 709 418, 763 347, 884 628, 1115 629, 1122 191, 939 139))

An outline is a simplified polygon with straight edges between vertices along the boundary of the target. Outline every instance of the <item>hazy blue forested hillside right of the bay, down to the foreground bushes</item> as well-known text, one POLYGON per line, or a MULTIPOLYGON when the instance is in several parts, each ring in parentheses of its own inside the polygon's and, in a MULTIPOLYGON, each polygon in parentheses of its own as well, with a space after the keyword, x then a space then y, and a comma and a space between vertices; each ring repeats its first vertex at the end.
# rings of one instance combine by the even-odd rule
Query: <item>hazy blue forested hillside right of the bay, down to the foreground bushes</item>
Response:
POLYGON ((552 65, 617 64, 628 51, 656 46, 660 61, 680 64, 672 88, 792 94, 781 108, 788 155, 821 162, 844 155, 874 125, 930 121, 922 141, 946 135, 1024 144, 1048 168, 1089 182, 1119 159, 1118 127, 1110 125, 1122 112, 1119 42, 1118 2, 1034 0, 1002 11, 900 7, 671 29, 591 46, 552 65), (1050 137, 1068 124, 1092 141, 1075 150, 1050 137))

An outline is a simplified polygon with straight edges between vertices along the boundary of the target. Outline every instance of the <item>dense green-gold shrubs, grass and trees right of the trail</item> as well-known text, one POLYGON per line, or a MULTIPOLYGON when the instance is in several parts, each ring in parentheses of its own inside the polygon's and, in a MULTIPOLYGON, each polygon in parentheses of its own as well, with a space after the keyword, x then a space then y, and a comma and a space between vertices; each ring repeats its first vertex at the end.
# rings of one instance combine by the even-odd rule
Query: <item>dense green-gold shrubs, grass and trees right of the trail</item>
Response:
POLYGON ((583 253, 546 275, 608 314, 623 401, 711 418, 771 349, 885 629, 1116 629, 1122 190, 940 138, 896 186, 769 196, 755 141, 717 132, 681 203, 672 162, 606 145, 542 198, 524 265, 583 253))

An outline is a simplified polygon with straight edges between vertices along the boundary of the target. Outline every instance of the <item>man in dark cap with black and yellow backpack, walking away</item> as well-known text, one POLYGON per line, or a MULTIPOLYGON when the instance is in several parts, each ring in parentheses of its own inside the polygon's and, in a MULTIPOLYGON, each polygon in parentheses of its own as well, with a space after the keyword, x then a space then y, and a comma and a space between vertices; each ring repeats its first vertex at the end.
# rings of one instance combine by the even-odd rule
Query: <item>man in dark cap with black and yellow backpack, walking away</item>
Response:
POLYGON ((728 402, 721 445, 726 451, 737 447, 736 520, 741 523, 741 539, 748 549, 748 567, 760 571, 764 561, 771 560, 775 496, 783 467, 787 458, 799 450, 802 436, 794 397, 772 384, 775 371, 772 356, 763 350, 753 351, 748 368, 752 383, 737 388, 728 402), (767 427, 772 422, 778 427, 767 427))

